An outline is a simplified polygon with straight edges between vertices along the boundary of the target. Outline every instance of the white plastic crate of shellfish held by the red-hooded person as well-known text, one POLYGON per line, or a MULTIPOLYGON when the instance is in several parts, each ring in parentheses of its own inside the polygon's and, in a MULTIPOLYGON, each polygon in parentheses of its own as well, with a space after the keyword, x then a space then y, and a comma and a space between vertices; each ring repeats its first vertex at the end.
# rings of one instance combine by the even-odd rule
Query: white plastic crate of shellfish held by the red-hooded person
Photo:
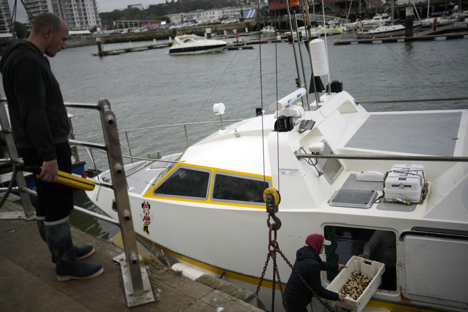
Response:
POLYGON ((341 270, 328 285, 327 289, 329 291, 341 292, 341 288, 348 282, 353 272, 366 274, 372 277, 372 280, 357 300, 348 296, 344 301, 331 301, 329 303, 331 303, 332 307, 338 306, 352 312, 361 312, 379 288, 382 282, 382 274, 385 272, 385 264, 353 255, 346 266, 347 268, 341 270))

